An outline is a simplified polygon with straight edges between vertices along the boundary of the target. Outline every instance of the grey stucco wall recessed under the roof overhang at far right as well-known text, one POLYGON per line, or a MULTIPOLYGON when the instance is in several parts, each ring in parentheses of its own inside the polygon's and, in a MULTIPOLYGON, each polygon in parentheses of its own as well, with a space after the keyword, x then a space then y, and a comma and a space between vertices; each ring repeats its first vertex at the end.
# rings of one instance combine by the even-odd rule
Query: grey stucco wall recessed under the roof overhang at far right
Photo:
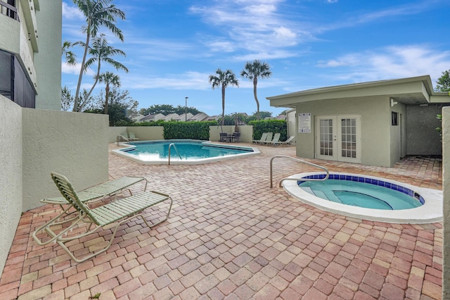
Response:
POLYGON ((442 155, 441 137, 435 130, 441 125, 436 115, 442 113, 442 106, 406 107, 407 155, 442 155))

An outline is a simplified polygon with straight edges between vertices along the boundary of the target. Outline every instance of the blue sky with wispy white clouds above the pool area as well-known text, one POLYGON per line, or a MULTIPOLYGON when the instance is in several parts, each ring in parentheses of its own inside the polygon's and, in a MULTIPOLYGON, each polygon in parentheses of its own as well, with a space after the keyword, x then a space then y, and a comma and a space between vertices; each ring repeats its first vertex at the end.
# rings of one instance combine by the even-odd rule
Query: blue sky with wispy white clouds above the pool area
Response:
MULTIPOLYGON (((259 80, 260 111, 278 115, 266 96, 354 82, 430 75, 433 85, 450 69, 448 0, 115 0, 126 13, 117 27, 127 53, 115 59, 129 68, 122 86, 139 101, 198 108, 221 114, 221 91, 208 76, 231 69, 239 87, 226 89, 225 113, 256 111, 252 82, 240 77, 245 62, 270 65, 259 80)), ((63 41, 84 40, 82 15, 63 0, 63 41)), ((82 52, 75 48, 78 61, 82 52)), ((62 63, 62 86, 75 92, 79 67, 62 63)), ((83 87, 94 82, 93 70, 83 87)), ((98 85, 98 89, 103 89, 98 85)))

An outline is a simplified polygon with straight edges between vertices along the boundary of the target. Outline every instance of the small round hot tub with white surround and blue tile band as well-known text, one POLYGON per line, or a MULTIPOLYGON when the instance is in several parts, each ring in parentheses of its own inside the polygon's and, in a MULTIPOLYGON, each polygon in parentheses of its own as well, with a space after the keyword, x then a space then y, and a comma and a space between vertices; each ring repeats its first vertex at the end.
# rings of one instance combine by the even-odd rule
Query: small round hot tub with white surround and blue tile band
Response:
MULTIPOLYGON (((320 179, 324 176, 324 173, 316 172, 296 174, 289 178, 320 179)), ((283 182, 283 187, 290 195, 306 204, 353 218, 411 224, 442 221, 442 191, 349 173, 330 173, 326 187, 314 192, 311 186, 316 184, 319 182, 310 181, 306 184, 302 180, 287 180, 283 182), (366 192, 362 192, 359 183, 363 182, 371 186, 370 188, 375 191, 374 194, 367 195, 366 192), (361 205, 366 201, 371 203, 361 205)))

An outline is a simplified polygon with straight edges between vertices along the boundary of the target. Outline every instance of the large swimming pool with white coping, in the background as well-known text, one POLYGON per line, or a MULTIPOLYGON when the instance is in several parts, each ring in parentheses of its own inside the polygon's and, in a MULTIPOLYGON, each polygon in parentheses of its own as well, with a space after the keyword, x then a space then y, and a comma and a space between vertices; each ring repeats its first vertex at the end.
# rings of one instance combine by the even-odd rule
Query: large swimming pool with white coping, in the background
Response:
POLYGON ((195 165, 259 154, 259 150, 246 146, 213 144, 195 139, 164 139, 129 142, 127 148, 113 153, 143 164, 195 165), (172 146, 170 146, 172 144, 172 146))

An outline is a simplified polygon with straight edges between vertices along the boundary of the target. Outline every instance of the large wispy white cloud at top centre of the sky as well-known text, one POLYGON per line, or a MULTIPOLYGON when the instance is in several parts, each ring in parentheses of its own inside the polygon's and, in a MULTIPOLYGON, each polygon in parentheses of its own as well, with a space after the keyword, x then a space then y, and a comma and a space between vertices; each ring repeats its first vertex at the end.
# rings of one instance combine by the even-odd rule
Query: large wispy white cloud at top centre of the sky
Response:
POLYGON ((210 6, 192 6, 191 13, 200 15, 204 23, 221 31, 215 42, 205 43, 212 51, 223 46, 226 51, 265 51, 269 56, 278 57, 281 49, 295 46, 300 39, 309 37, 309 33, 298 30, 300 26, 293 16, 281 13, 280 4, 283 2, 215 1, 210 6), (270 54, 272 52, 274 54, 270 54))

